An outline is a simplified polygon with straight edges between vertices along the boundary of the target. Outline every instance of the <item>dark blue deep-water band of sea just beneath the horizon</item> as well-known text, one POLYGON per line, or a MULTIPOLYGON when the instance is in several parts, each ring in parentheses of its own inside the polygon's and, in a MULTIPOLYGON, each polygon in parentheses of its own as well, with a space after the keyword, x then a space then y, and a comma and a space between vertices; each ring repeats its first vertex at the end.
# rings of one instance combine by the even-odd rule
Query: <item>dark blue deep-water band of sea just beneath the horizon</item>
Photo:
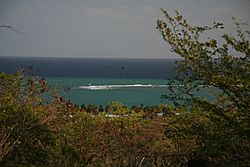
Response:
POLYGON ((174 76, 173 59, 98 59, 0 57, 0 70, 13 73, 33 66, 44 77, 167 79, 174 76))

